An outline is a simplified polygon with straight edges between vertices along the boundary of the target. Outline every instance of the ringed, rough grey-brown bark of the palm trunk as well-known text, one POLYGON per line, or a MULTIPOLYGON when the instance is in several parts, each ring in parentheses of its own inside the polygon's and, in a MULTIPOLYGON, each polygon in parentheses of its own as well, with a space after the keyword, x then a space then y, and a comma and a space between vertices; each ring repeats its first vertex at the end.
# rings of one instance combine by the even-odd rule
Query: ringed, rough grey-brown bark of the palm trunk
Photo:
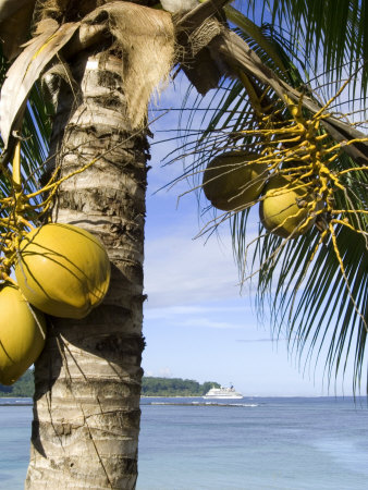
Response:
POLYGON ((61 93, 53 149, 62 140, 62 174, 97 161, 62 185, 54 219, 97 234, 112 277, 103 304, 87 318, 49 318, 36 363, 27 489, 136 483, 148 143, 126 118, 121 62, 111 53, 75 60, 81 94, 61 93))

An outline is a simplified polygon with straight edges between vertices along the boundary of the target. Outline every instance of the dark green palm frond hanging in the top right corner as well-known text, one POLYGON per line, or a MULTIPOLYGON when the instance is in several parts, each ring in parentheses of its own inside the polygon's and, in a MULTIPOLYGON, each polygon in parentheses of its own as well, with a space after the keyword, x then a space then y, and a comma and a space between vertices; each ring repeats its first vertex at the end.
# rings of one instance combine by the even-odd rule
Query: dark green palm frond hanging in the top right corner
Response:
POLYGON ((322 62, 332 90, 344 72, 353 75, 352 94, 365 97, 368 83, 366 0, 268 0, 272 21, 285 26, 290 38, 305 47, 304 59, 322 62))

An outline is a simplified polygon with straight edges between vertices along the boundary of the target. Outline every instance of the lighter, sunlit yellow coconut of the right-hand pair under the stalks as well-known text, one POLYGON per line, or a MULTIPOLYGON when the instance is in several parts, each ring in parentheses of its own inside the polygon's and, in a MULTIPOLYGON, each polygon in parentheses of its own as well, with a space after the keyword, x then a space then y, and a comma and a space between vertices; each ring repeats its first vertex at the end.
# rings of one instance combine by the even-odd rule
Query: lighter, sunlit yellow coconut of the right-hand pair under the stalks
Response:
POLYGON ((289 175, 275 175, 265 187, 265 198, 259 207, 260 220, 270 232, 296 238, 315 222, 315 219, 307 221, 312 200, 305 182, 289 175))

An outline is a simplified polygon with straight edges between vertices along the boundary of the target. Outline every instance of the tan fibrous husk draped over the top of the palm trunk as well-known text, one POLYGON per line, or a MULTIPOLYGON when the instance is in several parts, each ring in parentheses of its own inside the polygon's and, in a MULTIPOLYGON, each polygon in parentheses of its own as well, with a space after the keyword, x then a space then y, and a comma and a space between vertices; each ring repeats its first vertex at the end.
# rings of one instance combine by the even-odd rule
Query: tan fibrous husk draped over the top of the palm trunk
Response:
POLYGON ((96 9, 86 20, 94 24, 108 15, 109 32, 122 53, 121 77, 132 128, 143 127, 147 105, 174 63, 174 26, 168 12, 115 1, 96 9))

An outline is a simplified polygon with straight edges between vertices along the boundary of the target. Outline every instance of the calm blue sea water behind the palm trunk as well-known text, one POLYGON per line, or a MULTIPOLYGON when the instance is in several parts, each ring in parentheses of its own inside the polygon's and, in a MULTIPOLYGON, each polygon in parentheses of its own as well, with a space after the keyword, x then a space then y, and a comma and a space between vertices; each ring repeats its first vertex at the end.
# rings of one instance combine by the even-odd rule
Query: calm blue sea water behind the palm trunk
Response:
MULTIPOLYGON (((144 399, 138 490, 367 490, 366 400, 144 399), (228 402, 229 403, 229 402, 228 402)), ((23 489, 30 406, 0 399, 0 489, 23 489)))

